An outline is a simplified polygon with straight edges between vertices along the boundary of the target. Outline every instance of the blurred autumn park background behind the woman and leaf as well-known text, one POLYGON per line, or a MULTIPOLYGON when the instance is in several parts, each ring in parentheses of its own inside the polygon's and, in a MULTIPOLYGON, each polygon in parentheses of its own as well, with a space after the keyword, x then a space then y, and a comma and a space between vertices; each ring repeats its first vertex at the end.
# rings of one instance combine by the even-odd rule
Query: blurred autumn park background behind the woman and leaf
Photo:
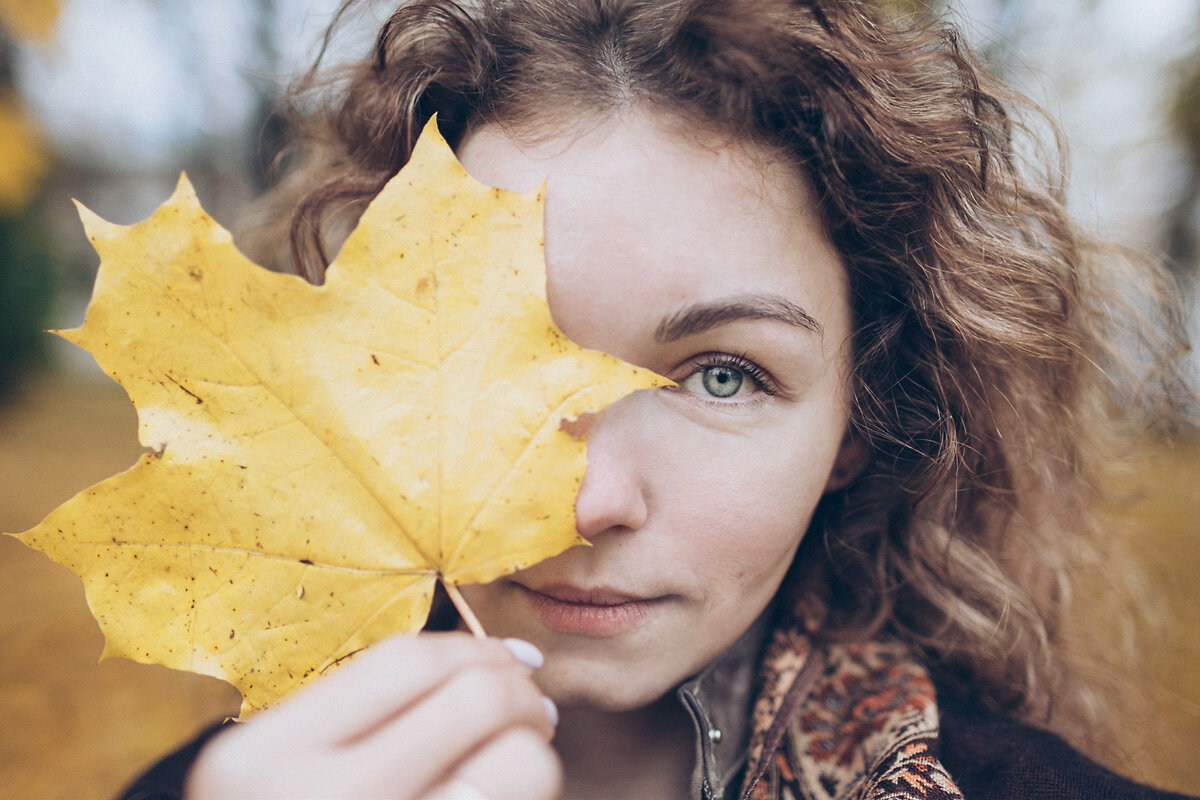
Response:
MULTIPOLYGON (((1162 254, 1190 290, 1200 0, 893 2, 956 20, 995 71, 1057 118, 1076 215, 1162 254)), ((329 60, 364 53, 386 5, 365 4, 329 60)), ((120 389, 43 332, 82 321, 97 266, 71 198, 127 224, 186 170, 205 209, 236 227, 283 134, 272 100, 312 60, 336 6, 0 0, 0 530, 32 527, 139 453, 120 389)), ((1142 660, 1152 687, 1130 688, 1145 696, 1146 723, 1129 729, 1115 766, 1200 794, 1200 445, 1148 441, 1116 456, 1140 464, 1128 487, 1138 501, 1121 513, 1163 590, 1147 615, 1170 622, 1142 660)), ((1097 614, 1079 625, 1103 625, 1097 614)), ((112 796, 236 711, 220 681, 97 664, 101 646, 79 581, 0 537, 0 796, 112 796)))

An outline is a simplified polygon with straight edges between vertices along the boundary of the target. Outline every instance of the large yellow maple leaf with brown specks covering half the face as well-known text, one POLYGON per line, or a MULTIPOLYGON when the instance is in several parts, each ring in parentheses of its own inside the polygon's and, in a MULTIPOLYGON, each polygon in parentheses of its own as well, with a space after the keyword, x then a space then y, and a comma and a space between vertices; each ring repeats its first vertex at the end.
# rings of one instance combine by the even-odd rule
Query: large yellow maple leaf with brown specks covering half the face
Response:
POLYGON ((563 421, 666 381, 583 350, 545 295, 541 193, 467 176, 431 124, 324 285, 263 270, 186 179, 148 221, 82 210, 90 350, 151 452, 20 534, 84 581, 104 656, 262 708, 421 627, 436 582, 581 543, 563 421))

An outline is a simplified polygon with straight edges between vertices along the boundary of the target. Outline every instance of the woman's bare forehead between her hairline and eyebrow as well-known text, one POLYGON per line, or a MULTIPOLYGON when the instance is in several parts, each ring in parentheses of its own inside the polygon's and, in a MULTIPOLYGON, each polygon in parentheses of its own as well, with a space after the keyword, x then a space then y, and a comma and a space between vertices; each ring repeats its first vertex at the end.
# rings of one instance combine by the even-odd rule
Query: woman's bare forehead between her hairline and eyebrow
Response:
POLYGON ((845 270, 808 184, 762 149, 629 113, 540 136, 485 126, 458 156, 492 186, 546 181, 551 306, 581 344, 618 319, 644 336, 634 312, 653 330, 688 303, 761 294, 847 332, 845 270))

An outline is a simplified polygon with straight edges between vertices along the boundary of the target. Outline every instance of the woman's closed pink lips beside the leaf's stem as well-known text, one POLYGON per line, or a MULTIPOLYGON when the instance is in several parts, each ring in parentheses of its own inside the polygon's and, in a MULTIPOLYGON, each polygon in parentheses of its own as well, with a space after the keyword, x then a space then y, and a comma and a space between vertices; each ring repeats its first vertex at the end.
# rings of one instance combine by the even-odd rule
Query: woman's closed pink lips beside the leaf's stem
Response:
POLYGON ((666 596, 643 597, 604 587, 554 584, 532 589, 521 583, 515 585, 542 625, 577 636, 624 633, 648 621, 667 601, 666 596))

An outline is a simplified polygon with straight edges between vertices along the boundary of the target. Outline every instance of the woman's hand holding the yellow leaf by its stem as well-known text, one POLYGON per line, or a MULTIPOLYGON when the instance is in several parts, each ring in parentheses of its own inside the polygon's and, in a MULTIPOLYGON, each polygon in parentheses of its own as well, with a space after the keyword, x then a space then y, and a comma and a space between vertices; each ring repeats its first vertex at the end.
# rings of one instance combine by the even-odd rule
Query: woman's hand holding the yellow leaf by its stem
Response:
POLYGON ((557 715, 530 678, 540 655, 510 646, 463 633, 380 642, 214 738, 186 796, 433 799, 474 789, 488 800, 550 800, 560 783, 550 747, 557 715))

